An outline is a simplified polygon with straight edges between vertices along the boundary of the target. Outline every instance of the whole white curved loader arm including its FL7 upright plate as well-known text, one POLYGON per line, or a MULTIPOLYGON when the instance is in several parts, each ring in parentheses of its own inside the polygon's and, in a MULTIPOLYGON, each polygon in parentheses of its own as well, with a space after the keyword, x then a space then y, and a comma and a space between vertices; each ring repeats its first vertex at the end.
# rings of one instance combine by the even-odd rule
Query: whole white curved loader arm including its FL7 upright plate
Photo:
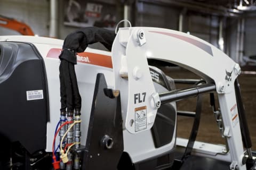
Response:
POLYGON ((115 89, 121 91, 123 128, 130 133, 149 130, 161 105, 147 58, 177 64, 215 84, 230 149, 230 168, 245 170, 234 89, 234 81, 241 73, 239 65, 216 47, 186 33, 160 28, 120 28, 112 47, 112 60, 115 89))

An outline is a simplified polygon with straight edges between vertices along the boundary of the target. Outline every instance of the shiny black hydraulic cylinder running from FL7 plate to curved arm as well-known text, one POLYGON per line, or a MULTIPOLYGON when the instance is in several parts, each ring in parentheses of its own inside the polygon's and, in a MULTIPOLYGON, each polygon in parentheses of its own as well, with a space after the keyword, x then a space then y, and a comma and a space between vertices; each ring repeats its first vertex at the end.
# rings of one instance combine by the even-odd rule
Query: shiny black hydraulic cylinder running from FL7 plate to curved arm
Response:
POLYGON ((215 91, 215 84, 202 84, 199 86, 192 86, 189 88, 183 88, 178 90, 173 90, 159 94, 161 104, 170 103, 173 101, 179 101, 185 98, 196 97, 200 94, 206 94, 215 91))

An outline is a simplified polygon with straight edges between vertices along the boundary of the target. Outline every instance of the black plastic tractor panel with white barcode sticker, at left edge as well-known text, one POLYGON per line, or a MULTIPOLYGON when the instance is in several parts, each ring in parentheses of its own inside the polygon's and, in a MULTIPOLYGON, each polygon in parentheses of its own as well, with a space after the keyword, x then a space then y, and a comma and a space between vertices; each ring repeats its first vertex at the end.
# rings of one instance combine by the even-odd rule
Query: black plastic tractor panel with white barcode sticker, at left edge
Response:
POLYGON ((0 51, 0 136, 19 141, 32 154, 46 147, 49 104, 44 61, 32 44, 0 42, 0 51), (27 100, 27 91, 32 90, 43 90, 43 99, 27 100))

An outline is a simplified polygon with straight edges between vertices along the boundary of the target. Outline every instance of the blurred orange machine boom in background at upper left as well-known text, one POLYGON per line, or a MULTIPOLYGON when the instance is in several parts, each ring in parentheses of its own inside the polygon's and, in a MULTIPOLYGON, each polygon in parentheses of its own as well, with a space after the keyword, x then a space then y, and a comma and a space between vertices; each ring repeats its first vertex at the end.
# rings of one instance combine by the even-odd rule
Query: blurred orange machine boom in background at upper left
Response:
POLYGON ((21 33, 21 35, 34 36, 34 32, 31 28, 22 22, 19 22, 13 18, 8 18, 6 16, 0 15, 0 27, 9 28, 21 33))

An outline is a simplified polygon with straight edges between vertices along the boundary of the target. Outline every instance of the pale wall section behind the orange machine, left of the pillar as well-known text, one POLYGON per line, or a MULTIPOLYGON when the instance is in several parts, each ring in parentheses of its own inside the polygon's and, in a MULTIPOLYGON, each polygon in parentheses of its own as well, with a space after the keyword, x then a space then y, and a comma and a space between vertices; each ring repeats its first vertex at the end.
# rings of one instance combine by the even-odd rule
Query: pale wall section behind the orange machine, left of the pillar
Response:
MULTIPOLYGON (((1 0, 0 15, 14 18, 30 26, 35 34, 49 35, 50 4, 47 0, 1 0)), ((19 32, 0 27, 0 35, 20 35, 19 32)))

